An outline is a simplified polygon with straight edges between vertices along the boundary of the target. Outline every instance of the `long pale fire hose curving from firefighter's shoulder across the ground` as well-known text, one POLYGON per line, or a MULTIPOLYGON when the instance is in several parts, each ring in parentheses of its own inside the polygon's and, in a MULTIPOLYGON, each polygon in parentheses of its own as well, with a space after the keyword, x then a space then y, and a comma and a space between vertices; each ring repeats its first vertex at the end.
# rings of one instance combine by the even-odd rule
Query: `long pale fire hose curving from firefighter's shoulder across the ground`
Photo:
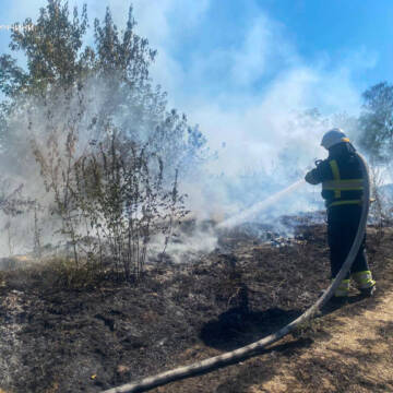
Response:
POLYGON ((369 200, 370 200, 370 179, 368 167, 360 154, 358 154, 358 158, 361 166, 362 178, 364 178, 364 198, 362 198, 362 210, 361 217, 358 226, 358 230, 356 233, 355 240, 352 245, 349 253, 338 272, 337 276, 333 281, 333 283, 329 286, 329 288, 324 291, 323 296, 321 296, 308 310, 306 310, 299 318, 295 321, 290 322, 286 326, 282 327, 277 332, 249 345, 246 345, 241 348, 211 357, 209 359, 204 359, 202 361, 198 361, 190 366, 179 367, 174 370, 169 370, 153 377, 144 378, 138 382, 127 383, 122 386, 112 388, 106 390, 103 393, 134 393, 134 392, 146 392, 153 388, 157 388, 164 385, 169 382, 174 382, 180 379, 189 378, 199 373, 204 373, 211 370, 215 370, 219 367, 223 367, 228 364, 234 364, 238 360, 241 360, 259 350, 265 348, 267 345, 271 345, 277 342, 279 338, 284 337, 291 331, 294 331, 297 326, 312 319, 319 311, 320 308, 326 303, 330 298, 333 296, 335 289, 338 287, 340 283, 345 278, 349 269, 358 253, 359 247, 362 242, 364 235, 367 226, 367 217, 369 211, 369 200))

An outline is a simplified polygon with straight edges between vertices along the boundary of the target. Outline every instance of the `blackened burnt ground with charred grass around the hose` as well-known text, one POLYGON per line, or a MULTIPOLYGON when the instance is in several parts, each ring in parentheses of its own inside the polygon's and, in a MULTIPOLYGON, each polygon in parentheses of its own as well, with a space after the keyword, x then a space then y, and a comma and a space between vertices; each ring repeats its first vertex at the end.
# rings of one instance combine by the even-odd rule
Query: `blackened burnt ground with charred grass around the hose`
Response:
MULTIPOLYGON (((302 225, 297 239, 266 245, 252 236, 227 235, 221 239, 225 252, 216 250, 183 264, 166 261, 150 269, 138 285, 106 279, 71 289, 49 267, 2 272, 0 392, 100 392, 276 331, 329 284, 325 226, 302 225)), ((331 340, 340 318, 361 315, 390 293, 392 240, 391 228, 383 234, 368 228, 369 262, 378 281, 374 298, 361 299, 354 290, 348 305, 326 308, 315 322, 263 354, 155 392, 273 392, 254 386, 274 380, 285 367, 295 370, 293 391, 350 391, 343 381, 362 378, 353 367, 336 359, 331 367, 320 357, 300 364, 298 359, 331 340), (324 376, 330 381, 326 390, 319 383, 324 376)), ((380 336, 364 337, 365 345, 386 341, 392 323, 379 330, 380 336)), ((354 356, 372 365, 361 352, 354 356)), ((361 383, 364 391, 391 392, 378 381, 361 383)))

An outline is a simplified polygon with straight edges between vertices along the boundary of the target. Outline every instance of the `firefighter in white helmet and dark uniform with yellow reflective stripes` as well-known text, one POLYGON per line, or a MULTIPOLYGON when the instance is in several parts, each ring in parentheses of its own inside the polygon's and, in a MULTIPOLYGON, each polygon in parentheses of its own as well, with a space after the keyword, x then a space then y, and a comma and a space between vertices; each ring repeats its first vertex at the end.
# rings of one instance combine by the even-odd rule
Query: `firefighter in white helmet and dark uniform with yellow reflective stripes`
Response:
MULTIPOLYGON (((362 171, 356 150, 341 129, 327 131, 321 145, 329 157, 318 160, 305 179, 310 184, 322 183, 322 198, 327 207, 327 242, 332 279, 340 272, 354 242, 361 216, 362 171)), ((350 273, 336 289, 335 302, 347 299, 350 278, 365 296, 376 289, 365 252, 366 235, 352 265, 350 273)))

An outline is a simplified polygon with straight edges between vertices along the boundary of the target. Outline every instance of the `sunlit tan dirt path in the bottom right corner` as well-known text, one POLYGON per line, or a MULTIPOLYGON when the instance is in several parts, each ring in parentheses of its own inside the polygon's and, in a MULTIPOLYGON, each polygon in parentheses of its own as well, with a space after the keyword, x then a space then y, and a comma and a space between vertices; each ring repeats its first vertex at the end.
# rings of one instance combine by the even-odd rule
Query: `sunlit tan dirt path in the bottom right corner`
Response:
POLYGON ((358 315, 343 309, 329 333, 249 392, 393 392, 393 293, 358 315))

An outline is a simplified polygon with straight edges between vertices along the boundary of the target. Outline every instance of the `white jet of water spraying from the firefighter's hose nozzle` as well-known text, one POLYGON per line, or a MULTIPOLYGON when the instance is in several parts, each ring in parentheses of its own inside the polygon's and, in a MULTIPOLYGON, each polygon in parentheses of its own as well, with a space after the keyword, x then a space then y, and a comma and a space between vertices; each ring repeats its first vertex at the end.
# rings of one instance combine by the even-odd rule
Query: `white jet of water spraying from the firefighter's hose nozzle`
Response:
POLYGON ((264 209, 271 206, 273 203, 276 203, 283 196, 285 196, 288 193, 295 191, 296 189, 298 189, 300 186, 302 186, 305 183, 306 183, 306 181, 303 179, 295 181, 293 184, 290 184, 286 189, 274 193, 273 195, 266 198, 265 200, 263 200, 261 202, 258 202, 254 205, 252 205, 251 207, 245 210, 243 212, 241 212, 239 214, 236 214, 235 216, 233 216, 230 218, 227 218, 224 222, 219 223, 217 225, 217 228, 218 229, 230 228, 230 227, 234 227, 236 225, 239 225, 239 224, 242 224, 242 223, 247 222, 249 218, 251 218, 252 216, 254 216, 259 212, 261 212, 264 209))

